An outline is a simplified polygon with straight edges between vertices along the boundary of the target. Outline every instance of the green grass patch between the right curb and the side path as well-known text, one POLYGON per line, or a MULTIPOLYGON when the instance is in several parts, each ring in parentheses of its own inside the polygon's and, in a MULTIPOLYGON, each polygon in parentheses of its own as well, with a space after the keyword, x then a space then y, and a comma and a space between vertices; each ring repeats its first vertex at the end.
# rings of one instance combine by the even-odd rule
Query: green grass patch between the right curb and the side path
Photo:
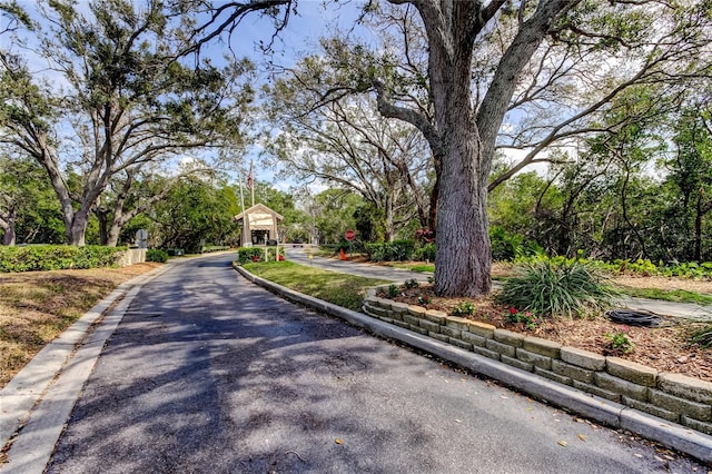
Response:
POLYGON ((307 267, 291 261, 266 261, 244 265, 249 273, 305 295, 353 310, 360 310, 366 289, 389 283, 336 271, 307 267))

